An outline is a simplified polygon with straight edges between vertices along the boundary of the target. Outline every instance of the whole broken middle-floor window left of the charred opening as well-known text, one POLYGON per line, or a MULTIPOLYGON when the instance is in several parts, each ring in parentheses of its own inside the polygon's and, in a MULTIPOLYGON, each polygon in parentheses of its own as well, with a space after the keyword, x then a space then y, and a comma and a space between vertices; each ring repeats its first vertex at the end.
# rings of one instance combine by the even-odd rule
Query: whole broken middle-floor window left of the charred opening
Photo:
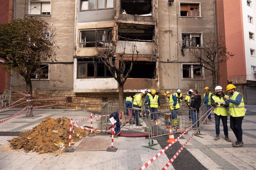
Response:
POLYGON ((113 40, 113 28, 80 30, 80 48, 102 47, 113 40))

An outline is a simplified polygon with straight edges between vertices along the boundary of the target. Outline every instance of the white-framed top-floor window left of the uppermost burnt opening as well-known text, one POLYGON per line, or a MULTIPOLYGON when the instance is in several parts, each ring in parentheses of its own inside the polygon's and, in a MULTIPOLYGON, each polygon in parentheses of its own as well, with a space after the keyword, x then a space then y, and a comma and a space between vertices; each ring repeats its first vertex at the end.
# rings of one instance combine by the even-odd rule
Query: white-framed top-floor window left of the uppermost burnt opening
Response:
POLYGON ((113 8, 113 0, 81 0, 81 11, 113 8))

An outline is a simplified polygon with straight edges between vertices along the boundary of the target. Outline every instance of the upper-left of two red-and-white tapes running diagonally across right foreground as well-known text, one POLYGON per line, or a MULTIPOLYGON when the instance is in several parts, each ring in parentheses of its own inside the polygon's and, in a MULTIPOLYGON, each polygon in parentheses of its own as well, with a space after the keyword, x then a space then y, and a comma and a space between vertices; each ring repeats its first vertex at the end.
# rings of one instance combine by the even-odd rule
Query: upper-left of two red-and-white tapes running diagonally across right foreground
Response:
MULTIPOLYGON (((212 111, 213 109, 211 109, 212 111)), ((207 112, 206 112, 207 113, 207 112)), ((206 115, 206 113, 204 113, 204 115, 206 115)), ((210 112, 211 113, 211 112, 210 112)), ((210 114, 209 113, 209 114, 210 114)), ((203 116, 204 116, 203 115, 203 116)), ((201 116, 200 119, 203 118, 203 116, 201 116)), ((163 150, 161 150, 158 154, 156 154, 154 157, 152 157, 147 163, 145 163, 139 170, 144 170, 145 168, 147 168, 152 162, 154 162, 155 159, 157 159, 161 154, 163 154, 170 146, 172 146, 175 142, 178 141, 178 139, 180 139, 181 136, 183 136, 185 133, 187 133, 187 131, 189 129, 191 129, 200 119, 198 119, 193 125, 191 125, 189 128, 186 129, 186 131, 184 131, 180 136, 178 136, 172 143, 170 143, 169 145, 167 145, 163 150)))

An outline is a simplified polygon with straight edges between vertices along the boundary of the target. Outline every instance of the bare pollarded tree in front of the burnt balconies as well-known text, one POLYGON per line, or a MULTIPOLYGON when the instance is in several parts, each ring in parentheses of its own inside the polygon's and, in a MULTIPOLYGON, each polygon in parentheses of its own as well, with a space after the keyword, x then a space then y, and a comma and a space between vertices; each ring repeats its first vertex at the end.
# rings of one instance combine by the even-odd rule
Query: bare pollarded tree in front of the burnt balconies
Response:
MULTIPOLYGON (((132 45, 131 64, 127 64, 124 61, 125 57, 125 42, 122 44, 122 52, 117 53, 117 37, 113 41, 103 41, 103 47, 96 47, 99 58, 106 65, 111 72, 111 75, 118 82, 119 93, 119 106, 124 106, 124 83, 129 77, 134 62, 138 58, 139 51, 137 50, 136 42, 132 45), (136 53, 135 53, 136 51, 136 53), (127 69, 128 68, 128 69, 127 69)), ((97 45, 96 45, 97 46, 97 45)))

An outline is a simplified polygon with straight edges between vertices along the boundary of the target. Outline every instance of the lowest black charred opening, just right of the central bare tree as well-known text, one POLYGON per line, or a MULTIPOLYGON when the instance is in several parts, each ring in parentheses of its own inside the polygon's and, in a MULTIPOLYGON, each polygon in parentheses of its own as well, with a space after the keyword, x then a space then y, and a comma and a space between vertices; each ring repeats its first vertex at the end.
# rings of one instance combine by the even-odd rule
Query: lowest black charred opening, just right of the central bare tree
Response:
MULTIPOLYGON (((131 61, 125 61, 125 73, 130 68, 131 61)), ((149 78, 154 79, 156 77, 155 62, 151 61, 136 61, 132 66, 132 71, 129 78, 149 78)))

